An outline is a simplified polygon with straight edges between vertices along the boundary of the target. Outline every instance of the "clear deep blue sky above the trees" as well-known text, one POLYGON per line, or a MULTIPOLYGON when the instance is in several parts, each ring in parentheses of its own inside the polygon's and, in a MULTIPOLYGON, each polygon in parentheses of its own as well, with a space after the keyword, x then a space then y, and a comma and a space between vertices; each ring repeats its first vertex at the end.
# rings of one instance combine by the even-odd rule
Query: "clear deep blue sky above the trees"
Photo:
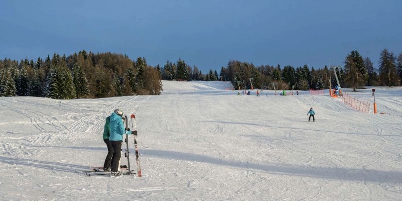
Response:
POLYGON ((378 65, 402 52, 401 0, 0 1, 0 58, 54 52, 180 57, 203 73, 229 60, 254 65, 343 65, 352 50, 378 65))

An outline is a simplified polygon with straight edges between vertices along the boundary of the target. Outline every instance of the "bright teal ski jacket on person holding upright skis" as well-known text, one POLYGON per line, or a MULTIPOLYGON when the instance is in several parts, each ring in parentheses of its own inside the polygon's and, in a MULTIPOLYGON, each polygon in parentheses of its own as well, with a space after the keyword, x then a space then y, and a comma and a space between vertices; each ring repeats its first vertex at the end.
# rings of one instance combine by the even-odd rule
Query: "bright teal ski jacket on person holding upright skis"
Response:
MULTIPOLYGON (((108 120, 108 119, 107 119, 108 120)), ((122 117, 120 117, 116 113, 112 113, 109 118, 109 140, 110 141, 123 141, 123 135, 124 134, 131 134, 131 131, 126 131, 124 129, 122 117)), ((127 120, 126 120, 127 121, 127 120)), ((106 126, 106 124, 105 124, 106 126)), ((105 135, 105 132, 104 132, 105 135)))

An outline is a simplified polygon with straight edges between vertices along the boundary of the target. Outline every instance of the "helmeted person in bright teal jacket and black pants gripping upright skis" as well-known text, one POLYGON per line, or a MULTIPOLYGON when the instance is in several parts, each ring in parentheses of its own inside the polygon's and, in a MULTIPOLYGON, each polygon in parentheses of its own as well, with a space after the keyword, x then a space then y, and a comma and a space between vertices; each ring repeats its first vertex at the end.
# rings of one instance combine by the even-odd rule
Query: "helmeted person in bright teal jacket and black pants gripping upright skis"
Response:
MULTIPOLYGON (((114 176, 121 176, 122 174, 119 172, 119 161, 121 157, 121 152, 119 150, 122 149, 122 143, 123 143, 123 134, 133 134, 137 135, 137 131, 131 132, 129 129, 126 131, 124 129, 123 121, 122 121, 122 116, 123 116, 123 110, 122 109, 116 109, 111 115, 110 115, 110 122, 109 122, 109 141, 110 144, 112 145, 113 150, 113 156, 112 156, 112 175, 114 176)), ((126 120, 127 121, 127 120, 126 120)))

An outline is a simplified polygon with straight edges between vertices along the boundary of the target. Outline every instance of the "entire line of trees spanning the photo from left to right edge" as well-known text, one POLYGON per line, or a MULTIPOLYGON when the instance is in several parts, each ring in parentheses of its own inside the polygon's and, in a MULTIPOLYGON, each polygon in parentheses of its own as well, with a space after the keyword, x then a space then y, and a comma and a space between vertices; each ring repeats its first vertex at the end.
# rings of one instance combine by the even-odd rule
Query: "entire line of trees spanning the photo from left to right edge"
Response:
POLYGON ((127 55, 92 53, 85 50, 69 56, 54 53, 44 60, 0 59, 1 96, 41 96, 56 99, 99 98, 123 95, 158 95, 163 80, 230 81, 236 89, 324 89, 340 85, 354 90, 359 86, 398 86, 402 84, 402 53, 395 56, 384 49, 378 69, 368 57, 356 50, 345 58, 344 66, 321 69, 278 64, 254 66, 253 63, 231 60, 227 67, 210 69, 203 74, 197 66, 184 60, 166 61, 161 68, 148 65, 144 57, 131 60, 127 55), (330 75, 331 74, 331 75, 330 75))

